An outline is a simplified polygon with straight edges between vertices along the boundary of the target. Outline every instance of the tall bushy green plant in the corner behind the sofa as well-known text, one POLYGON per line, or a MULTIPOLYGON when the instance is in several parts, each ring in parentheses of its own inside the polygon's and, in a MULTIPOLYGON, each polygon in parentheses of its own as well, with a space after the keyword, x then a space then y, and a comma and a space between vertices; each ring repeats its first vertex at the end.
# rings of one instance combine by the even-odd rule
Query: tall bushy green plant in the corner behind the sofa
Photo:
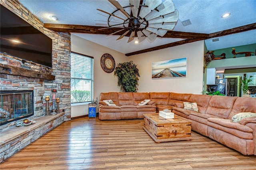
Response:
POLYGON ((114 71, 114 75, 118 77, 118 86, 125 92, 137 92, 138 80, 140 77, 139 69, 133 61, 118 63, 114 71))

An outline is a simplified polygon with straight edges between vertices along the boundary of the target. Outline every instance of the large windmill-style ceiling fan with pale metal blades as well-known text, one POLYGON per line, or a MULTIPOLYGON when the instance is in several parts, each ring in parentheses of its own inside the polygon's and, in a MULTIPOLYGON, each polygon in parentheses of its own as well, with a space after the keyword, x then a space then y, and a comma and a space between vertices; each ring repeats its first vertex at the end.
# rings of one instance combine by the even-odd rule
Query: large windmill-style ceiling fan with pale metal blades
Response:
POLYGON ((168 30, 173 30, 178 22, 179 13, 175 9, 172 0, 129 0, 130 5, 122 7, 117 0, 108 0, 116 7, 114 12, 108 14, 108 27, 100 28, 122 28, 113 31, 114 35, 118 32, 125 31, 118 39, 120 40, 130 32, 128 43, 138 37, 138 42, 144 41, 146 38, 150 41, 156 40, 157 36, 164 36, 168 30))

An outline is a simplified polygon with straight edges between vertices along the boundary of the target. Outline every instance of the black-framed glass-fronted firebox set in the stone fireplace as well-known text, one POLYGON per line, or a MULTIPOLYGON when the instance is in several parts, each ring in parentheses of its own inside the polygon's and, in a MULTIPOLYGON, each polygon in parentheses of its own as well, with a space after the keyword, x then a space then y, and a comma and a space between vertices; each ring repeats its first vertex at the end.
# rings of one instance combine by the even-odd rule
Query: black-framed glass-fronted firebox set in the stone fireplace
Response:
POLYGON ((33 91, 0 92, 0 125, 34 115, 33 91))

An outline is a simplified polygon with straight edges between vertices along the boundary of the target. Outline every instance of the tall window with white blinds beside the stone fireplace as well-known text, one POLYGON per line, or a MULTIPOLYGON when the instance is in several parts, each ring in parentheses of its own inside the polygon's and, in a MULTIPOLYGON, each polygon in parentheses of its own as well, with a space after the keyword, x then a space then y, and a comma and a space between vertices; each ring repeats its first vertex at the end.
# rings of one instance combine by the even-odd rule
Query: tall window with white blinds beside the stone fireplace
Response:
POLYGON ((93 101, 93 57, 71 52, 71 103, 93 101))

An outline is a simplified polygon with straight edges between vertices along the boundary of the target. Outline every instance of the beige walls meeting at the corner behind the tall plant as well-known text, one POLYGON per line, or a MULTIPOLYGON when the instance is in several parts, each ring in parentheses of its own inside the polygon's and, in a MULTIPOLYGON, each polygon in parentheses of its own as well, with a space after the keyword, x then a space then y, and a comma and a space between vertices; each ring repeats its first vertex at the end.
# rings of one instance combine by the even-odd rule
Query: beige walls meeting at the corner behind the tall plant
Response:
MULTIPOLYGON (((101 92, 119 92, 114 72, 105 73, 100 67, 100 57, 111 54, 116 65, 125 61, 137 64, 140 77, 138 92, 177 92, 202 94, 204 41, 188 43, 148 53, 126 57, 124 54, 96 43, 71 35, 71 51, 94 57, 94 100, 101 92), (151 63, 169 59, 187 57, 187 77, 152 79, 151 63)), ((71 117, 88 115, 88 105, 72 106, 71 117)))

